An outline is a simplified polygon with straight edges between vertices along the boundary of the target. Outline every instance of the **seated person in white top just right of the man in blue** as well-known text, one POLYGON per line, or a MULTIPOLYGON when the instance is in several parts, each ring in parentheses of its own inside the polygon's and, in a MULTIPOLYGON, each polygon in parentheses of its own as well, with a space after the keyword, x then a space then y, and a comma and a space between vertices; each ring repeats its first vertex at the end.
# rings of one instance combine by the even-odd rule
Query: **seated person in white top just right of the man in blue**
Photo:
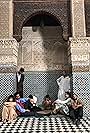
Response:
POLYGON ((36 102, 37 102, 37 97, 29 95, 29 99, 25 104, 25 108, 29 109, 31 112, 41 111, 41 108, 36 106, 36 102))

